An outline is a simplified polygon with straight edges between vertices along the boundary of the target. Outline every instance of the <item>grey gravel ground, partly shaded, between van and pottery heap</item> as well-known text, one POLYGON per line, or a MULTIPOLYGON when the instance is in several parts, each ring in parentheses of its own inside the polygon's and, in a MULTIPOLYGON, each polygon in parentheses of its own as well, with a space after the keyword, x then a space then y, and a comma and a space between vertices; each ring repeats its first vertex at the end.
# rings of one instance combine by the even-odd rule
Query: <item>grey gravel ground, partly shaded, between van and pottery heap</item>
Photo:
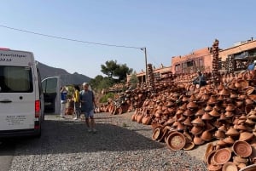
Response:
POLYGON ((131 122, 131 113, 95 117, 92 134, 82 121, 46 116, 40 139, 17 143, 10 170, 207 170, 187 152, 151 140, 151 126, 131 122))

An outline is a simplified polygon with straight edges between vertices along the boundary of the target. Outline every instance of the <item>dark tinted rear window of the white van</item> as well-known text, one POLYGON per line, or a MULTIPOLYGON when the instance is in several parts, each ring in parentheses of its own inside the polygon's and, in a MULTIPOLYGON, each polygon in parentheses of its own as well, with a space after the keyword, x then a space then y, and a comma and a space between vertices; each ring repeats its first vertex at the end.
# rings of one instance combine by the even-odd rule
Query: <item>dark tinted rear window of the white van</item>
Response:
POLYGON ((31 67, 0 66, 0 93, 30 93, 32 91, 31 67))

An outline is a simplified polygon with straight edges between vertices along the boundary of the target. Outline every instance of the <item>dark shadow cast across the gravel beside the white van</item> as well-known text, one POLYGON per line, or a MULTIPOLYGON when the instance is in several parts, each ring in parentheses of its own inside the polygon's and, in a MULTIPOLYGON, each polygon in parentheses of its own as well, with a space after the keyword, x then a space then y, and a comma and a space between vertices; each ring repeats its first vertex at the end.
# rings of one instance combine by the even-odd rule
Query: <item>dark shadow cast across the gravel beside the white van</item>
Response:
POLYGON ((18 149, 15 155, 144 151, 165 146, 137 134, 141 128, 130 130, 109 123, 96 123, 96 129, 97 133, 92 134, 82 122, 45 120, 40 139, 15 139, 9 143, 15 143, 18 149))

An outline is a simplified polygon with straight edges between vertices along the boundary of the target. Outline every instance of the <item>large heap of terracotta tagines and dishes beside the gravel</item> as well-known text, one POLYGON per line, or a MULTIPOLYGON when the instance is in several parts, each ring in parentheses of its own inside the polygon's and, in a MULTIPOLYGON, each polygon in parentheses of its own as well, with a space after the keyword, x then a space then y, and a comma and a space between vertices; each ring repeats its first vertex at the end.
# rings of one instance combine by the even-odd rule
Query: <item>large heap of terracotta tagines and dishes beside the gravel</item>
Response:
MULTIPOLYGON (((166 142, 172 150, 192 150, 196 145, 218 140, 212 145, 212 151, 224 149, 222 151, 228 153, 225 150, 228 149, 230 157, 225 162, 230 165, 218 159, 207 159, 209 170, 244 168, 256 161, 253 78, 254 73, 246 71, 224 75, 218 86, 208 84, 195 88, 189 83, 180 84, 182 87, 173 84, 176 87, 161 89, 145 99, 131 119, 137 123, 151 123, 152 139, 166 142), (248 145, 243 146, 242 142, 248 145), (247 155, 242 156, 237 151, 246 151, 247 155)), ((219 153, 222 152, 215 158, 221 156, 219 153)))

